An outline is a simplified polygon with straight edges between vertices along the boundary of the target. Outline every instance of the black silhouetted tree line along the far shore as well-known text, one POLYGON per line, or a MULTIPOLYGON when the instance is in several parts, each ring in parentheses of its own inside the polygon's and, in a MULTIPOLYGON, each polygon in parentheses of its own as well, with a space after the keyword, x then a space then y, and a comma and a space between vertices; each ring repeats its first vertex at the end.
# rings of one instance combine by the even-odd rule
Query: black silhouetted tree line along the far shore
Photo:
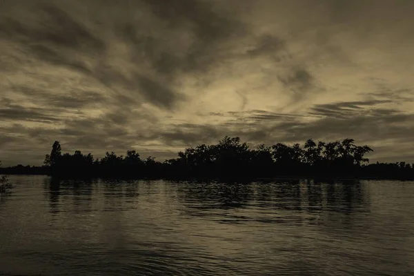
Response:
POLYGON ((201 144, 178 152, 178 157, 156 161, 142 159, 135 150, 126 155, 106 152, 101 159, 76 150, 61 152, 59 141, 46 155, 43 168, 59 177, 368 177, 402 178, 414 176, 414 164, 368 164, 368 146, 357 146, 353 139, 282 143, 250 148, 239 137, 224 137, 218 144, 201 144))

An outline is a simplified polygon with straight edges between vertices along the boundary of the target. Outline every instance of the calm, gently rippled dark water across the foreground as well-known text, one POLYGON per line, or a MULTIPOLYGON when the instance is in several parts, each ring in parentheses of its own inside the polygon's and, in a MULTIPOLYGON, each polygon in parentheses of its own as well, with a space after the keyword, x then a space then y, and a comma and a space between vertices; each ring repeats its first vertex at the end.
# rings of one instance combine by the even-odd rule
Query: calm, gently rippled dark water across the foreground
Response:
POLYGON ((414 275, 414 182, 11 180, 0 275, 414 275))

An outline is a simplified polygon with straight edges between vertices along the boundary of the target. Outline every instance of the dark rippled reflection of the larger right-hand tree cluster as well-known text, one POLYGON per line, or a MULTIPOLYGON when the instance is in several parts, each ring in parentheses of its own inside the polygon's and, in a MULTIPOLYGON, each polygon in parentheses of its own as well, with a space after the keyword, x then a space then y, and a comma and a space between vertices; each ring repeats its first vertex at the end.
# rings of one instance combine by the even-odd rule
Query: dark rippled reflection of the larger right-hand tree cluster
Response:
POLYGON ((315 220, 321 213, 352 214, 368 210, 360 181, 181 181, 177 190, 186 213, 195 216, 233 214, 234 217, 238 210, 247 209, 255 213, 250 219, 301 223, 315 220), (226 210, 230 213, 224 213, 226 210), (272 210, 266 219, 257 218, 266 210, 272 210))

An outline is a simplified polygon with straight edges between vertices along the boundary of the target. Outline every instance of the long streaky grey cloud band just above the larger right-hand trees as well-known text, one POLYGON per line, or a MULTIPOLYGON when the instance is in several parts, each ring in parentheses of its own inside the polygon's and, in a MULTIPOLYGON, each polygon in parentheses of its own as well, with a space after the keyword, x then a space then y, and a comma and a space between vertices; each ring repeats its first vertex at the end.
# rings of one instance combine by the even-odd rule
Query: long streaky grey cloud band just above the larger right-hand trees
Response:
MULTIPOLYGON (((376 101, 354 101, 342 105, 368 106, 375 103, 376 101)), ((341 103, 337 105, 341 106, 341 103)), ((263 111, 263 113, 267 112, 263 111)), ((228 120, 216 126, 179 124, 171 126, 169 130, 159 130, 157 133, 165 144, 180 146, 215 143, 224 135, 239 136, 255 146, 276 142, 303 144, 309 138, 334 141, 344 139, 344 133, 346 137, 352 137, 359 144, 377 144, 386 139, 404 144, 407 142, 407 135, 414 135, 414 125, 406 124, 407 121, 414 119, 414 115, 393 110, 378 109, 375 114, 366 113, 353 117, 315 117, 312 121, 304 121, 302 116, 273 117, 271 112, 269 115, 269 117, 255 116, 256 121, 250 124, 240 119, 228 120)))

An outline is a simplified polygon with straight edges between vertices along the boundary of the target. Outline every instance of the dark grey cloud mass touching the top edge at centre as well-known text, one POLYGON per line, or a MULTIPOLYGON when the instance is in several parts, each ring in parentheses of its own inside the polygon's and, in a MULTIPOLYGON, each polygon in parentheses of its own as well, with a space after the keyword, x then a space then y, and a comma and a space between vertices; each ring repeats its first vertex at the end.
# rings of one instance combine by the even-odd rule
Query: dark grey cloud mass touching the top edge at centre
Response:
POLYGON ((140 26, 132 23, 121 24, 115 30, 132 43, 136 61, 148 60, 157 72, 168 77, 180 72, 206 72, 221 59, 228 58, 218 55, 217 47, 221 43, 246 34, 245 23, 228 12, 215 9, 208 1, 143 2, 157 18, 153 23, 159 26, 159 34, 167 34, 170 40, 143 32, 140 26))

